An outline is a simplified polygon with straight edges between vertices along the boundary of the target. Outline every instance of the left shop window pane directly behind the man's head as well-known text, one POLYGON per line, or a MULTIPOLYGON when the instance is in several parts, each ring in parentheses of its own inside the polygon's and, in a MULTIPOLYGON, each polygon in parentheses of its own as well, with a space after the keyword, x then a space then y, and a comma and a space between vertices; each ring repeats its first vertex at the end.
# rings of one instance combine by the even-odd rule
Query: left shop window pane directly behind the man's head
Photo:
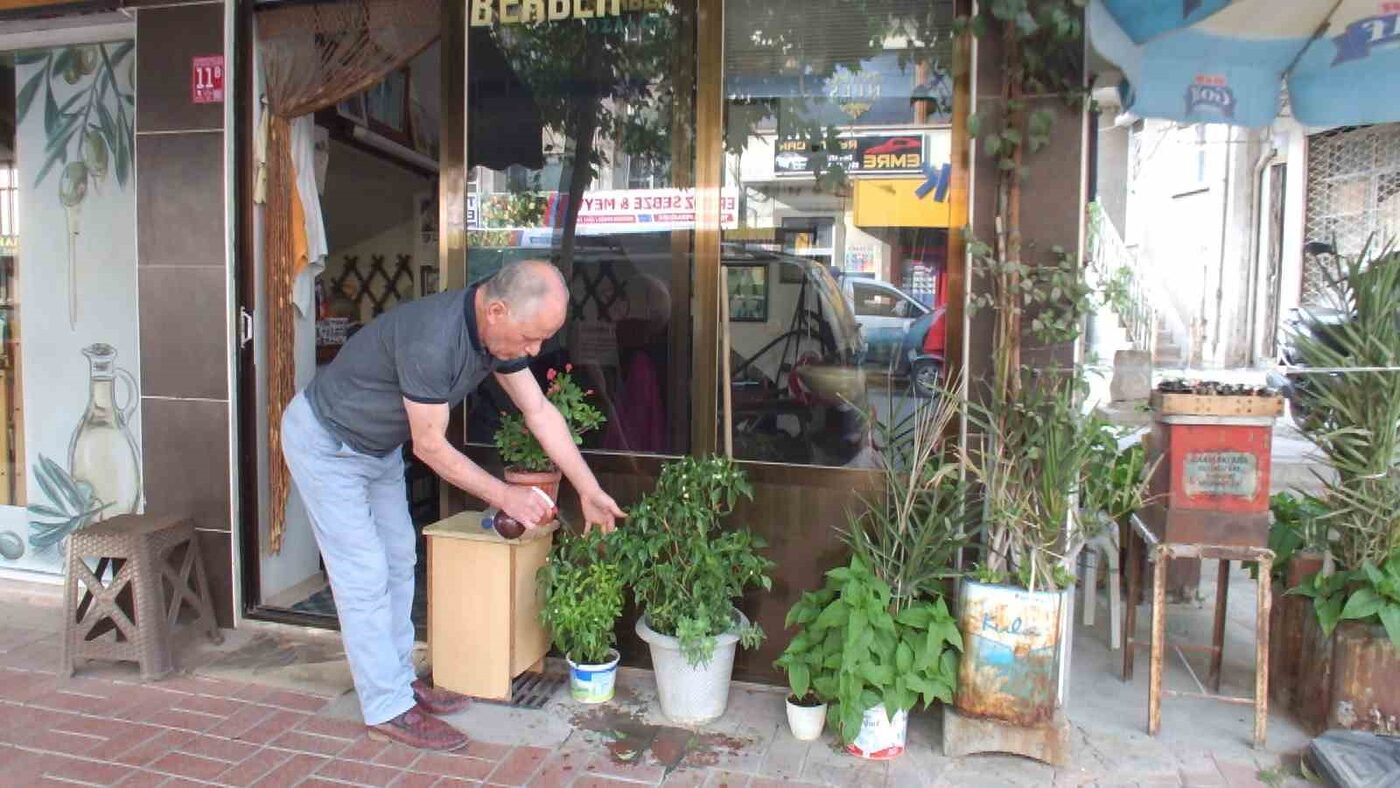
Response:
MULTIPOLYGON (((468 139, 482 210, 468 280, 553 262, 568 321, 531 370, 571 367, 608 424, 585 449, 690 449, 694 1, 518 24, 472 17, 468 139), (549 165, 554 162, 554 165, 549 165), (505 174, 504 178, 493 174, 505 174)), ((494 381, 468 400, 468 442, 512 410, 494 381)))

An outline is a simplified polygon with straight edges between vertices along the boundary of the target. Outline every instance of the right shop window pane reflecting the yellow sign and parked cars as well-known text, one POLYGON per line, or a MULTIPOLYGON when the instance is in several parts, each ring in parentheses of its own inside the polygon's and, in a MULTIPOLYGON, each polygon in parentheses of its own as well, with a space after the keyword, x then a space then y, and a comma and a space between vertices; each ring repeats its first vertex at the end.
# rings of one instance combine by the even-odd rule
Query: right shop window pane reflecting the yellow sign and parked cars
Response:
POLYGON ((918 304, 937 304, 948 258, 953 17, 951 1, 725 3, 722 385, 741 459, 869 467, 869 414, 914 402, 918 304))

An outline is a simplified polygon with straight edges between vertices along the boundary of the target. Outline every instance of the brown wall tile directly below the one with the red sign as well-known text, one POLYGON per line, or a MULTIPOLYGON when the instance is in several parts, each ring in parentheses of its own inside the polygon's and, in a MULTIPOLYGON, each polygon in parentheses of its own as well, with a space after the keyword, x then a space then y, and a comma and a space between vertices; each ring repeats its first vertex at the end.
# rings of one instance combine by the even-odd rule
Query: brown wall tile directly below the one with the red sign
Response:
POLYGON ((139 134, 137 259, 224 269, 224 134, 139 134))

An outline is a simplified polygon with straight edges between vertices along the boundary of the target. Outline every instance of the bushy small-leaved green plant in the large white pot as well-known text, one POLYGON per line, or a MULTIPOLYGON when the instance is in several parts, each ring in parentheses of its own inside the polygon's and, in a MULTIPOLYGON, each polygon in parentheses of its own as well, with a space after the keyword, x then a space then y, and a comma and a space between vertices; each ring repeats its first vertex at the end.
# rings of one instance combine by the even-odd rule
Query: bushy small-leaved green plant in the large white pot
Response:
POLYGON ((661 711, 675 722, 722 715, 735 649, 763 640, 735 602, 748 588, 771 588, 773 561, 746 529, 721 529, 752 495, 734 462, 683 458, 662 467, 620 530, 623 577, 643 610, 637 634, 651 649, 661 711))

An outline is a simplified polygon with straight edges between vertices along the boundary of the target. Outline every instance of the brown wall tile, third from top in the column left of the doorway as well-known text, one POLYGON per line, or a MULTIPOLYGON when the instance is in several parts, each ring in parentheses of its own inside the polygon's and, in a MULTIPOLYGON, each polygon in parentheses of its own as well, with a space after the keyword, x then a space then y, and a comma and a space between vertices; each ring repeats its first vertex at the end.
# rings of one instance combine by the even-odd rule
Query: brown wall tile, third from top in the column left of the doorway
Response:
POLYGON ((141 391, 228 399, 225 272, 141 266, 141 391))

